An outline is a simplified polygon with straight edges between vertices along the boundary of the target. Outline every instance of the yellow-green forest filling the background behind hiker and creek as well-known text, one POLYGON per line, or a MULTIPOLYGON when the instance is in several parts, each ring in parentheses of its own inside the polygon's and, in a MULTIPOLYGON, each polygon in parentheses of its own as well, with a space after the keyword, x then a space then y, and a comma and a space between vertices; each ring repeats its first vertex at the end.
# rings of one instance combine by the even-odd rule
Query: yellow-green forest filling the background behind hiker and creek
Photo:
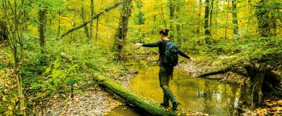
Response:
POLYGON ((162 28, 192 56, 282 68, 278 0, 0 3, 0 112, 7 115, 36 114, 48 98, 85 93, 93 84, 90 70, 113 79, 125 75, 121 60, 157 53, 133 44, 158 41, 162 28))

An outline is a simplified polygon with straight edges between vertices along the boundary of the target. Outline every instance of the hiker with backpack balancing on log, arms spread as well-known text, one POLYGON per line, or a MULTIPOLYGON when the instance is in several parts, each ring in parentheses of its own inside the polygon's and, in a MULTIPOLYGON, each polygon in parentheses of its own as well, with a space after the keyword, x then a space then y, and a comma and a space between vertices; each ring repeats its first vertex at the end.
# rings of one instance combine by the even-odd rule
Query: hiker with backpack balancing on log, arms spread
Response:
POLYGON ((168 39, 168 29, 162 29, 159 31, 161 40, 152 44, 140 44, 136 43, 135 46, 145 46, 145 47, 159 47, 159 84, 164 93, 164 102, 160 105, 164 108, 169 107, 169 100, 172 103, 172 110, 176 110, 179 105, 178 100, 173 96, 171 90, 169 89, 169 81, 172 79, 173 67, 178 63, 178 54, 185 58, 192 60, 185 53, 180 51, 176 44, 168 39))

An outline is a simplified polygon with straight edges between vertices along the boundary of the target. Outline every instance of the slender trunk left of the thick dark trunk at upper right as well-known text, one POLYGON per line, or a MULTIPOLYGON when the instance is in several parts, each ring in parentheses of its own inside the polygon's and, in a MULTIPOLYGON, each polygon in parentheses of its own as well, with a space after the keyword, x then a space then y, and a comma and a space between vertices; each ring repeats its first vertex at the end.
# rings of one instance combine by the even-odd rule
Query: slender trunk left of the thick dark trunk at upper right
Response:
POLYGON ((237 1, 232 0, 232 17, 233 17, 233 34, 238 34, 238 20, 237 20, 237 1))

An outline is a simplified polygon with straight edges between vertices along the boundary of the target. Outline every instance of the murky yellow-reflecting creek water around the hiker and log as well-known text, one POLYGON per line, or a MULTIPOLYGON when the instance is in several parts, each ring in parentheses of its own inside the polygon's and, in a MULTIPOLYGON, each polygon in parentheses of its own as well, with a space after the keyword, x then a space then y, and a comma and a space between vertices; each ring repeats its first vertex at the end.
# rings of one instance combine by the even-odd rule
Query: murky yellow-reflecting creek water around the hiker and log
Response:
MULTIPOLYGON (((130 90, 137 95, 161 103, 163 92, 159 86, 159 66, 148 66, 145 61, 139 61, 130 63, 127 67, 130 70, 138 71, 138 74, 130 80, 130 90)), ((185 110, 204 112, 209 115, 232 115, 235 108, 238 107, 240 89, 237 85, 191 78, 188 72, 177 68, 174 69, 173 80, 170 81, 169 88, 180 102, 178 108, 185 110)), ((113 112, 122 112, 121 115, 138 115, 140 113, 126 109, 127 111, 116 108, 110 115, 113 115, 113 112)))

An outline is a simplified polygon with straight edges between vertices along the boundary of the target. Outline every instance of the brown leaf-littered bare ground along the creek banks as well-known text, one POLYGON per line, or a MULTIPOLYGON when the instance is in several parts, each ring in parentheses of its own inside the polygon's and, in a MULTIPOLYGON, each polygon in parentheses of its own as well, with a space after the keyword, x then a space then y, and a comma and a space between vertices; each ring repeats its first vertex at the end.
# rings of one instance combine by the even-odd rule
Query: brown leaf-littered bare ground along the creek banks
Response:
MULTIPOLYGON (((176 68, 187 71, 195 77, 203 72, 210 72, 223 67, 219 62, 213 62, 209 58, 195 57, 193 60, 180 60, 176 68)), ((129 73, 129 72, 128 72, 129 73)), ((224 75, 210 76, 223 77, 224 75)), ((125 77, 119 77, 125 88, 130 85, 130 79, 133 74, 128 74, 125 77)), ((241 77, 238 75, 229 75, 225 82, 236 82, 241 77)), ((223 78, 222 78, 223 79, 223 78)), ((99 86, 90 87, 92 90, 86 94, 75 94, 74 98, 59 98, 49 103, 49 108, 45 109, 42 115, 107 115, 113 108, 116 108, 125 103, 118 101, 113 95, 102 91, 99 86)), ((279 114, 282 112, 282 101, 279 99, 266 100, 261 108, 256 110, 248 110, 248 114, 279 114)), ((197 113, 194 115, 200 115, 197 113)), ((193 114, 191 114, 193 115, 193 114)))

